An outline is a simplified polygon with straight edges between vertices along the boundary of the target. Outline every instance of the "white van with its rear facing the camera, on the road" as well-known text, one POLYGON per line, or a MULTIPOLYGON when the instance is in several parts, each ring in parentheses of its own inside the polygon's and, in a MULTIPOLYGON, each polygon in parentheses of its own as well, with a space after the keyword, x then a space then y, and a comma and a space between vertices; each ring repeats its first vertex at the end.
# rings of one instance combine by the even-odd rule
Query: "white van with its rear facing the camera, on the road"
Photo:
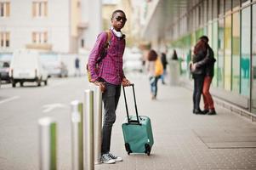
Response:
POLYGON ((24 82, 37 82, 37 86, 41 86, 41 82, 47 85, 48 72, 43 68, 37 51, 20 49, 14 52, 9 77, 13 87, 17 82, 20 82, 20 86, 24 82))

